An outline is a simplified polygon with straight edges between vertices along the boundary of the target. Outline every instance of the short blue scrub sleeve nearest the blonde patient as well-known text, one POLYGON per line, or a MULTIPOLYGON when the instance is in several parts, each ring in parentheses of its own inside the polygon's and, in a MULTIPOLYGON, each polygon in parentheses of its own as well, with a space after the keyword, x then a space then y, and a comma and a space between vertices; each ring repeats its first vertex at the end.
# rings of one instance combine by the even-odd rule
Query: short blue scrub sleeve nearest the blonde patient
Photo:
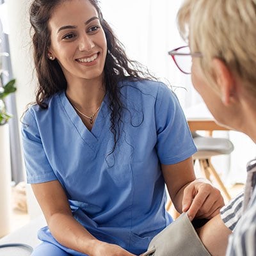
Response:
POLYGON ((157 154, 162 164, 179 163, 192 156, 196 147, 175 93, 160 84, 156 107, 157 154))

